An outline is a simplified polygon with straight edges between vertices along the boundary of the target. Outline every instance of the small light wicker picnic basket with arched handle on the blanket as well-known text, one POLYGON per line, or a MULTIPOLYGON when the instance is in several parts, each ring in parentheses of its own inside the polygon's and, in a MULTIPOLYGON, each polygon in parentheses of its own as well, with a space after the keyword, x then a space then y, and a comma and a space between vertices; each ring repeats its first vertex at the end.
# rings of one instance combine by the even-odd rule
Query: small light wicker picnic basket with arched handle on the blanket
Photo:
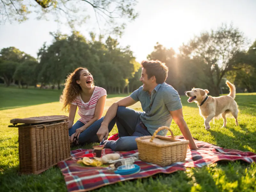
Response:
POLYGON ((140 160, 160 166, 184 161, 189 143, 188 140, 175 139, 172 130, 167 126, 159 127, 153 136, 136 138, 136 142, 140 160), (164 129, 169 130, 172 137, 156 135, 164 129))

